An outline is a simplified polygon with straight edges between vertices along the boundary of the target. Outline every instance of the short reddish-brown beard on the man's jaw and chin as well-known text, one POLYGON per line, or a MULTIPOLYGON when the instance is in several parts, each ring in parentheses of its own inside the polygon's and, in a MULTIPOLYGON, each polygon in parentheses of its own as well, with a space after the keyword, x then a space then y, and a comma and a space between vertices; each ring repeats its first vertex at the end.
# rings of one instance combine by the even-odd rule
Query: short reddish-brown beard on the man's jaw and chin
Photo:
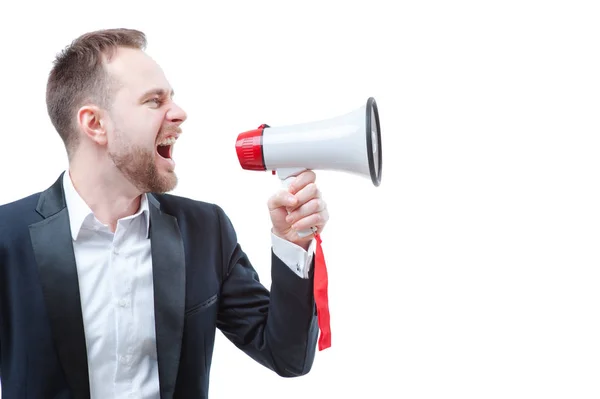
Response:
POLYGON ((177 186, 177 175, 170 170, 166 174, 158 171, 155 163, 155 149, 137 146, 128 142, 125 135, 117 131, 116 145, 108 156, 117 169, 131 184, 144 193, 166 193, 177 186))

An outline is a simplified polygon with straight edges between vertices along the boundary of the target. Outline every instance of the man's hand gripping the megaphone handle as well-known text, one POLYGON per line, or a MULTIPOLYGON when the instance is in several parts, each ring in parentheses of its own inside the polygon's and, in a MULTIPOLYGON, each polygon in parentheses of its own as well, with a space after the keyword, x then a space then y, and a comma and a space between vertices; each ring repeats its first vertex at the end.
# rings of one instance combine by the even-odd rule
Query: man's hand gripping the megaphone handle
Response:
POLYGON ((301 238, 297 232, 315 227, 316 232, 320 233, 329 220, 327 204, 321 198, 315 180, 316 175, 312 170, 304 171, 296 176, 288 190, 280 190, 267 202, 273 234, 305 250, 314 235, 301 238))

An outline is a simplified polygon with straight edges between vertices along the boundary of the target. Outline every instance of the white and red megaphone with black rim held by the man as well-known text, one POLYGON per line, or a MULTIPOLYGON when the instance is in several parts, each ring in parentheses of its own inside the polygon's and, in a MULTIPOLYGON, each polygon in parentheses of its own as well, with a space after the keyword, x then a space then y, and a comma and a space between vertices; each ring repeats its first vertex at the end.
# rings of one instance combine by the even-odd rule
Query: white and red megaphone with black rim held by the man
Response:
POLYGON ((279 127, 263 124, 240 133, 235 148, 243 169, 272 171, 286 188, 307 169, 348 172, 370 178, 375 187, 381 184, 381 125, 373 97, 334 118, 279 127))

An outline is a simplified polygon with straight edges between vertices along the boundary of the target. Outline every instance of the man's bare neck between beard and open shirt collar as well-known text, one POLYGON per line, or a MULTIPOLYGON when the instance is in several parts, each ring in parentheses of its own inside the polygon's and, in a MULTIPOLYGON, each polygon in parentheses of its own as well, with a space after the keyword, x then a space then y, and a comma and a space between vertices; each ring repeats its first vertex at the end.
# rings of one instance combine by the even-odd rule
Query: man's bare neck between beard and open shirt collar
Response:
MULTIPOLYGON (((89 159, 89 158, 88 158, 89 159)), ((94 216, 114 233, 117 221, 135 214, 140 208, 142 192, 106 162, 73 159, 69 164, 73 186, 94 216)))

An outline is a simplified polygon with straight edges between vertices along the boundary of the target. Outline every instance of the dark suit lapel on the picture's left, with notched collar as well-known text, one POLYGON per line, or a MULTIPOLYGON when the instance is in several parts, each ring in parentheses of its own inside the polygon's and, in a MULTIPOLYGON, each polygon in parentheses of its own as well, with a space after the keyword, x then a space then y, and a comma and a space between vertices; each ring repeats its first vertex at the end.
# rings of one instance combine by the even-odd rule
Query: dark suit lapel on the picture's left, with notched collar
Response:
POLYGON ((62 175, 41 194, 36 211, 44 219, 29 226, 29 232, 52 336, 73 397, 87 399, 87 350, 62 175))

